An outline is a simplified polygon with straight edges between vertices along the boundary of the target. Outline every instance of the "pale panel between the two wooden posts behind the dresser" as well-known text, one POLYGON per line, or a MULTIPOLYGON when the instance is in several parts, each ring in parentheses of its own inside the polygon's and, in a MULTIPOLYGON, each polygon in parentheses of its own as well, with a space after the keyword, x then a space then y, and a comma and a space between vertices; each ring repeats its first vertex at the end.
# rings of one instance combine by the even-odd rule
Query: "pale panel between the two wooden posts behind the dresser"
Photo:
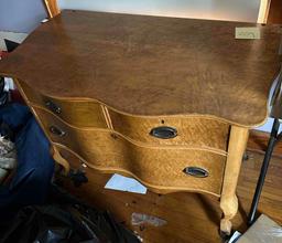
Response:
POLYGON ((61 9, 257 22, 260 0, 57 0, 61 9))

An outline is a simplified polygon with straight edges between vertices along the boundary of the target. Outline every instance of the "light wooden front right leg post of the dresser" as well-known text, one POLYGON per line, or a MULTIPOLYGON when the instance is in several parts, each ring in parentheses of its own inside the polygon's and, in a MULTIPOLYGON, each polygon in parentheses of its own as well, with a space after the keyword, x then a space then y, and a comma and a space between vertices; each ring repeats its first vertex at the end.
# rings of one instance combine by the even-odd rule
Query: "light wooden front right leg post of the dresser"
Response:
POLYGON ((220 231, 230 234, 231 219, 238 210, 238 199, 236 197, 236 187, 241 168, 242 156, 246 150, 249 130, 237 126, 231 126, 228 156, 225 167, 223 192, 220 197, 220 208, 224 216, 220 221, 220 231))

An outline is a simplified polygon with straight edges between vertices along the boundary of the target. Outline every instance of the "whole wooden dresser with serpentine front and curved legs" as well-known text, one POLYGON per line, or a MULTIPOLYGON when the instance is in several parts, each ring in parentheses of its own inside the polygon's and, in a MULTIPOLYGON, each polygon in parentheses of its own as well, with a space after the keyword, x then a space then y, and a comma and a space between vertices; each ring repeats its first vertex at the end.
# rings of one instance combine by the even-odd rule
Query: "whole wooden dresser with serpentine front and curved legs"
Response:
POLYGON ((75 157, 159 193, 214 194, 229 234, 248 130, 268 117, 281 61, 279 25, 235 39, 236 27, 253 25, 63 11, 0 73, 14 78, 66 171, 75 157))

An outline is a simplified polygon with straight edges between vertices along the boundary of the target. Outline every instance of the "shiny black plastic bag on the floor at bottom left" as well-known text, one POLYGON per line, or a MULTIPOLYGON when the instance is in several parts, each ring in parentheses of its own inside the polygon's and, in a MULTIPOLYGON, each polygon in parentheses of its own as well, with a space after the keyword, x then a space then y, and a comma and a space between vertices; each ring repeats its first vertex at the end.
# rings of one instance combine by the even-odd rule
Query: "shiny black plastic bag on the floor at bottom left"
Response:
POLYGON ((40 207, 25 207, 0 226, 1 243, 139 243, 108 212, 80 203, 68 194, 40 207))

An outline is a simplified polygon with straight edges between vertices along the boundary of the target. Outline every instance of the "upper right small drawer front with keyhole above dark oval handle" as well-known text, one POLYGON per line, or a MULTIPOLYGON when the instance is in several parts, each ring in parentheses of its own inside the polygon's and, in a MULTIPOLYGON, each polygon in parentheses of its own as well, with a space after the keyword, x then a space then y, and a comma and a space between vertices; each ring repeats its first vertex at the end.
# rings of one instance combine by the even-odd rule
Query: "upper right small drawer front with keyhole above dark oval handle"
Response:
POLYGON ((182 145, 226 151, 228 124, 203 117, 133 117, 109 110, 113 129, 148 145, 182 145))

